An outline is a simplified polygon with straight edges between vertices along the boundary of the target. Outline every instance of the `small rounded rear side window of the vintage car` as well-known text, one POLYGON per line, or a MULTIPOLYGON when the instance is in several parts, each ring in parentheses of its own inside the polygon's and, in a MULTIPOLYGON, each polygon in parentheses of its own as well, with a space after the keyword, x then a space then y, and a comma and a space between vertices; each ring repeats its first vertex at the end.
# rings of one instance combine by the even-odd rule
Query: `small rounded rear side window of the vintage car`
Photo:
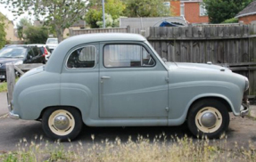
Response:
POLYGON ((70 69, 94 68, 95 56, 96 48, 93 45, 78 48, 70 54, 70 57, 67 61, 67 67, 70 69))

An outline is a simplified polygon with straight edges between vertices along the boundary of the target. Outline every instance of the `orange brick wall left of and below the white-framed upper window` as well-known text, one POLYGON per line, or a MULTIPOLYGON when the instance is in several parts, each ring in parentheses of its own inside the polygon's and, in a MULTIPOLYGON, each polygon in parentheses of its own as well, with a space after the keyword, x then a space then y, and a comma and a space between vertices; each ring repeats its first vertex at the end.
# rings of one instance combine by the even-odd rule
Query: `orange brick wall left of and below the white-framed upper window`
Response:
POLYGON ((200 16, 200 4, 198 2, 194 3, 184 3, 185 9, 185 19, 189 23, 208 23, 208 16, 200 16))

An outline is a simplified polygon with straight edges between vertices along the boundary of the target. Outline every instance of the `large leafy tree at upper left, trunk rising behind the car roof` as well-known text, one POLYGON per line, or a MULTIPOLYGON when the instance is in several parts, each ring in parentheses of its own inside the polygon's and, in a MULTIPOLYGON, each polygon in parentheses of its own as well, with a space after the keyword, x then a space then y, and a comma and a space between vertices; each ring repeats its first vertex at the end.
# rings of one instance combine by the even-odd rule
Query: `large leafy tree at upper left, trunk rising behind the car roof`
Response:
POLYGON ((43 18, 44 25, 54 28, 61 42, 64 29, 82 19, 88 0, 0 0, 0 3, 11 7, 16 15, 29 12, 37 19, 43 18))

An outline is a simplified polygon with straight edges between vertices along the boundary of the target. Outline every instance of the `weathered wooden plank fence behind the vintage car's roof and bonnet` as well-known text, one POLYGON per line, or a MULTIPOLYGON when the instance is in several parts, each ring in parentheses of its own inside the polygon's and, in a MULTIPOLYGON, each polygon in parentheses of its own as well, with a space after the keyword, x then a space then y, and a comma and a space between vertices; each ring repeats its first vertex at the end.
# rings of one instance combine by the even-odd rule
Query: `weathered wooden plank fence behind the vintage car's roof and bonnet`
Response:
POLYGON ((82 29, 72 30, 70 36, 101 32, 141 34, 167 61, 211 61, 228 66, 234 72, 249 78, 249 93, 256 95, 255 25, 82 29))

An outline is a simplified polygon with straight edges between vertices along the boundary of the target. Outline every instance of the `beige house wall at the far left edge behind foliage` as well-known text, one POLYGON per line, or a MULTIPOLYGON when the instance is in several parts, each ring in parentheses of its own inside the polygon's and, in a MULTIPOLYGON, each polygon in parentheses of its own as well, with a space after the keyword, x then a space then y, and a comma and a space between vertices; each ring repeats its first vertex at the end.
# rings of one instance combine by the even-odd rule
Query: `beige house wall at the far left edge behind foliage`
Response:
MULTIPOLYGON (((0 12, 0 16, 2 17, 4 16, 4 14, 0 12)), ((12 20, 8 20, 6 16, 4 16, 4 24, 5 24, 4 31, 6 33, 6 36, 5 36, 6 41, 10 43, 20 41, 20 39, 17 36, 17 32, 16 32, 16 29, 14 28, 14 24, 12 20)))

